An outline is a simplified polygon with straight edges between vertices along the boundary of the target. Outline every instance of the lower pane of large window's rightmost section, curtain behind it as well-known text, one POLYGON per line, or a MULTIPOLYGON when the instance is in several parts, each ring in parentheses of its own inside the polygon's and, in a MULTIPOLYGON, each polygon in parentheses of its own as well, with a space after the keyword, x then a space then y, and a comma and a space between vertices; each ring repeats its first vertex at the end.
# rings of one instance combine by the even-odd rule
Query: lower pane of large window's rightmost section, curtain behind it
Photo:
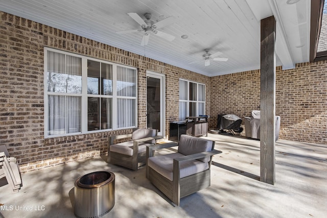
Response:
POLYGON ((135 99, 118 99, 117 127, 135 126, 135 99))

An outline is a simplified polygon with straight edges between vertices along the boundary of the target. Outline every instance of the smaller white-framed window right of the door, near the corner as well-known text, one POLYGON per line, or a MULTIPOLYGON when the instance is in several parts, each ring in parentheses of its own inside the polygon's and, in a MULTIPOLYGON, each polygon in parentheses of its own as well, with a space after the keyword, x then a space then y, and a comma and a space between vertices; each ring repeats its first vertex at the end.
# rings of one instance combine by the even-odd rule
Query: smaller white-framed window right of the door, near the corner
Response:
POLYGON ((179 120, 205 114, 205 85, 179 80, 179 120))

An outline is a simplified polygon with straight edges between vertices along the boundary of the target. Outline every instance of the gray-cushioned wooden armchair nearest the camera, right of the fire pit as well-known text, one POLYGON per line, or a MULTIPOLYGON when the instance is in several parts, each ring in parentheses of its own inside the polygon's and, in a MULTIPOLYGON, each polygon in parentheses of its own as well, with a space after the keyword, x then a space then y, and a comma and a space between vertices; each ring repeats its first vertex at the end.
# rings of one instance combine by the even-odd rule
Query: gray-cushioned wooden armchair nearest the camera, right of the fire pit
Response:
POLYGON ((215 141, 181 135, 178 143, 147 146, 146 177, 179 206, 180 199, 210 186, 215 141), (178 146, 175 153, 154 156, 154 151, 178 146))

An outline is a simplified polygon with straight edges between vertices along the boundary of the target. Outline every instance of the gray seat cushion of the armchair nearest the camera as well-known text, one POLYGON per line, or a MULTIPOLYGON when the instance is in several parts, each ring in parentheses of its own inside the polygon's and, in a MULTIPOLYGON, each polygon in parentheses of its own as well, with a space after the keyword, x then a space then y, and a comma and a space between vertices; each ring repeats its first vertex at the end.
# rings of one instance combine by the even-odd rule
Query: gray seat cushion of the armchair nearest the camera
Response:
MULTIPOLYGON (((148 166, 153 168, 156 172, 166 177, 170 181, 173 181, 173 164, 174 158, 183 157, 180 153, 171 153, 161 156, 154 156, 148 158, 148 166)), ((184 178, 209 168, 207 162, 198 160, 190 160, 181 163, 180 166, 180 178, 184 178)))

